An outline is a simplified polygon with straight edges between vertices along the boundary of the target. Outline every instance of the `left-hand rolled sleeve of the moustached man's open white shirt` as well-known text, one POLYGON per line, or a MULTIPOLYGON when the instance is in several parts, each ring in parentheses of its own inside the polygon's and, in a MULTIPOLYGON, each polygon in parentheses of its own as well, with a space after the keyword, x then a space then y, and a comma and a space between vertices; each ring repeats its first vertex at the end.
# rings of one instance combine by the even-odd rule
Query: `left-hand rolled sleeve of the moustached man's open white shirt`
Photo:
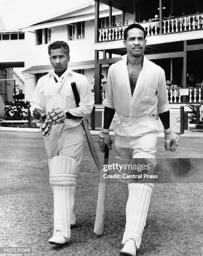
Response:
POLYGON ((106 92, 105 92, 105 99, 103 101, 103 105, 108 108, 114 107, 114 97, 113 97, 113 83, 112 83, 112 75, 111 75, 111 67, 109 67, 109 72, 107 75, 107 85, 106 85, 106 92))

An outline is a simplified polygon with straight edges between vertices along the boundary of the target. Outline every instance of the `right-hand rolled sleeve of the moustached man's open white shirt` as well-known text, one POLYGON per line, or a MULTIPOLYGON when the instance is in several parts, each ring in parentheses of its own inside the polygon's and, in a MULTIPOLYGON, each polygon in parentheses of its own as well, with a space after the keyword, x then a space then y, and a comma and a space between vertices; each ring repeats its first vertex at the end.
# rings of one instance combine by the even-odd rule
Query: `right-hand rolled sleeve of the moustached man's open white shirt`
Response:
POLYGON ((168 103, 168 95, 167 95, 167 90, 166 90, 166 80, 165 80, 164 70, 162 70, 162 72, 160 72, 157 97, 158 97, 157 113, 161 114, 161 113, 164 113, 164 112, 170 110, 170 105, 168 103))

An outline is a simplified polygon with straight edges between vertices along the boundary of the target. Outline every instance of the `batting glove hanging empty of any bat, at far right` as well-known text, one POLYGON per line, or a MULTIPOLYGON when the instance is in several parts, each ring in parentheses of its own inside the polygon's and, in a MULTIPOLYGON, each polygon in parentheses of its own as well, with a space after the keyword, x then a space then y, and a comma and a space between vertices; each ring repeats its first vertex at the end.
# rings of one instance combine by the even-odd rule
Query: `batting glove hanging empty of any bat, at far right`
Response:
POLYGON ((164 130, 165 133, 165 150, 175 151, 178 147, 179 137, 171 131, 171 128, 164 130))

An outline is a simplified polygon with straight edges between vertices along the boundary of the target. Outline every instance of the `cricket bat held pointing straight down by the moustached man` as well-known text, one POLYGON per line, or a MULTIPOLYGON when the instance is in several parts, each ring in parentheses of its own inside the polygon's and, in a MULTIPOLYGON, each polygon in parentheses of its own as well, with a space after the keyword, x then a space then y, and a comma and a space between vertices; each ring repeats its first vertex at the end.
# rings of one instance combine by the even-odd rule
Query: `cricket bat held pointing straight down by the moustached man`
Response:
MULTIPOLYGON (((108 164, 109 148, 106 146, 104 154, 104 164, 108 164)), ((99 192, 96 207, 96 218, 94 223, 94 233, 101 235, 104 230, 104 219, 107 207, 107 181, 104 179, 103 168, 100 170, 99 192)))

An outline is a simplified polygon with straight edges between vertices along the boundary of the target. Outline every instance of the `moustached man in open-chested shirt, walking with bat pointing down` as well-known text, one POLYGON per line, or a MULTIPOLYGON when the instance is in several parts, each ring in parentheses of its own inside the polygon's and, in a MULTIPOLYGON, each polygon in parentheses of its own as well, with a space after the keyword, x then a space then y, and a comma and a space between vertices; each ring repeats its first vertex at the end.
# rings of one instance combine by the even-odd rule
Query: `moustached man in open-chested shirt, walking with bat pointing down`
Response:
MULTIPOLYGON (((109 126, 116 111, 115 149, 120 164, 147 159, 155 166, 159 133, 156 113, 165 129, 165 149, 175 151, 178 146, 178 136, 170 128, 165 72, 144 56, 145 37, 145 29, 140 24, 131 24, 125 29, 127 54, 123 60, 109 67, 107 77, 106 98, 103 101, 104 128, 99 134, 99 145, 103 152, 105 144, 112 148, 109 126)), ((119 180, 129 192, 122 240, 124 247, 120 254, 135 256, 140 248, 154 184, 149 180, 144 183, 119 180)))

